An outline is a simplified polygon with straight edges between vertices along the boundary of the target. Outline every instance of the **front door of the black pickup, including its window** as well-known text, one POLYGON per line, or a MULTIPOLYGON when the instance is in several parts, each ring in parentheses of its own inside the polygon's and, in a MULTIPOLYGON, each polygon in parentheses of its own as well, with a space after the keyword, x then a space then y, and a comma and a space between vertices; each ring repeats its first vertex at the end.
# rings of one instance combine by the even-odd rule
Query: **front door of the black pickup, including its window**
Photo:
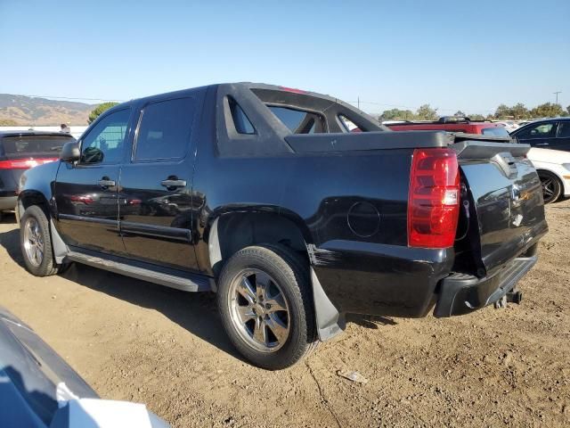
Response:
POLYGON ((118 181, 130 112, 113 111, 99 119, 79 142, 77 164, 61 164, 56 227, 69 245, 110 253, 125 249, 118 228, 118 181))

